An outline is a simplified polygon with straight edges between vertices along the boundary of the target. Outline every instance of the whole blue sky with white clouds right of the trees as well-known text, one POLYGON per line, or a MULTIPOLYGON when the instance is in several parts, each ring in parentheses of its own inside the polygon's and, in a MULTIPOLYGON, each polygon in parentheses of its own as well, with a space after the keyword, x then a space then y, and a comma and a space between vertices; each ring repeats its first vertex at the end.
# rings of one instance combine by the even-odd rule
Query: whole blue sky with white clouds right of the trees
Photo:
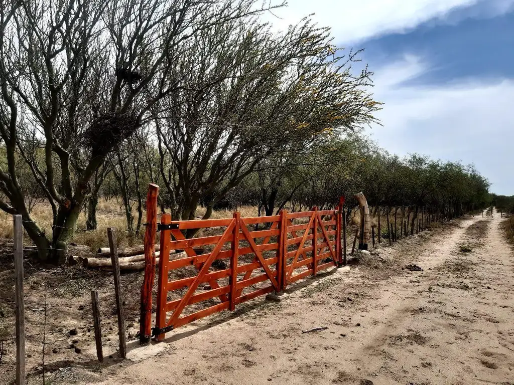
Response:
POLYGON ((339 45, 364 48, 381 147, 473 163, 514 195, 514 0, 290 0, 274 13, 279 27, 315 13, 339 45))

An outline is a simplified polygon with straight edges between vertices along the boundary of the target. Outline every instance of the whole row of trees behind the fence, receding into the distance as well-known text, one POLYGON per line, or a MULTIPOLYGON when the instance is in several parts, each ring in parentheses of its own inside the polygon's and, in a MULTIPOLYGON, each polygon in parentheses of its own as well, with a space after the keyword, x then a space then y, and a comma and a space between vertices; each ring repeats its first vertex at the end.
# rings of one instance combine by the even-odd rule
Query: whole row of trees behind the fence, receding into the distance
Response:
MULTIPOLYGON (((61 263, 101 196, 138 232, 148 182, 173 218, 197 208, 371 203, 482 205, 472 168, 399 159, 363 139, 381 104, 329 30, 274 32, 255 0, 0 0, 0 209, 61 263), (31 216, 47 201, 52 234, 31 216)), ((362 66, 361 66, 362 67, 362 66)))

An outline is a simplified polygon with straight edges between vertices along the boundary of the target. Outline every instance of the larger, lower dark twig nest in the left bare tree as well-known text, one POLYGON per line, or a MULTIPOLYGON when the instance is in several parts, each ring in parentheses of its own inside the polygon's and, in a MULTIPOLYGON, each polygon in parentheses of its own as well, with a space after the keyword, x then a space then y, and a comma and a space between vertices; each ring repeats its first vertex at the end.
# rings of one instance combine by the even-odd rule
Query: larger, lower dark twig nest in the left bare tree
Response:
POLYGON ((138 128, 132 114, 105 113, 95 118, 84 132, 84 145, 91 148, 93 157, 105 156, 138 128))

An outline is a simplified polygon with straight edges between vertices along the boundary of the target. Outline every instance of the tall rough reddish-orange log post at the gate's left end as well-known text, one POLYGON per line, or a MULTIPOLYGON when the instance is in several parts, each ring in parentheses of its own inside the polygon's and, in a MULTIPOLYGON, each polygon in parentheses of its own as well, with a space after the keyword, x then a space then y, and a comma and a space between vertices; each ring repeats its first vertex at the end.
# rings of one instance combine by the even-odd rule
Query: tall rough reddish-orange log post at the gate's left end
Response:
POLYGON ((139 342, 148 343, 152 335, 152 289, 155 277, 155 235, 157 233, 157 196, 159 186, 150 183, 146 196, 146 231, 144 232, 144 278, 141 288, 139 342))

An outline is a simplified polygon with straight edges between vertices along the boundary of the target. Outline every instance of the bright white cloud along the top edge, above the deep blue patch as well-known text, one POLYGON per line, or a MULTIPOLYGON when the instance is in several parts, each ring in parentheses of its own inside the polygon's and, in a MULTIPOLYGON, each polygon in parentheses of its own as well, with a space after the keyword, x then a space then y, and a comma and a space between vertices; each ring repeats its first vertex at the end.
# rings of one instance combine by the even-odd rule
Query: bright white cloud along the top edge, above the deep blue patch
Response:
MULTIPOLYGON (((491 0, 488 0, 491 1, 491 0)), ((498 1, 498 0, 493 0, 498 1)), ((502 0, 511 2, 511 0, 502 0)), ((443 17, 456 7, 479 0, 289 0, 287 8, 273 11, 267 20, 280 29, 315 13, 320 26, 332 27, 341 43, 356 43, 386 32, 403 31, 433 17, 443 17)))

